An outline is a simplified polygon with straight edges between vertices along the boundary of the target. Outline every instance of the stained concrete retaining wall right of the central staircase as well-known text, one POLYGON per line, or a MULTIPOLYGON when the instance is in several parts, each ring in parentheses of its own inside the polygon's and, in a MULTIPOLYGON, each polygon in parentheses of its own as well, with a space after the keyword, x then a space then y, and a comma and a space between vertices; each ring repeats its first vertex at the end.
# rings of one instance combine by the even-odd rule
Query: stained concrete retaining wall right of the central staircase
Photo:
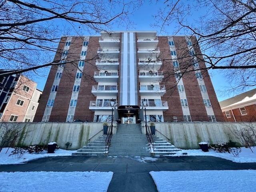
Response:
MULTIPOLYGON (((141 125, 142 132, 146 134, 145 123, 141 125)), ((231 140, 242 146, 235 132, 246 129, 248 126, 254 126, 256 129, 256 122, 158 122, 155 125, 156 136, 165 140, 169 139, 170 143, 182 149, 198 149, 198 143, 201 141, 216 144, 231 140)))

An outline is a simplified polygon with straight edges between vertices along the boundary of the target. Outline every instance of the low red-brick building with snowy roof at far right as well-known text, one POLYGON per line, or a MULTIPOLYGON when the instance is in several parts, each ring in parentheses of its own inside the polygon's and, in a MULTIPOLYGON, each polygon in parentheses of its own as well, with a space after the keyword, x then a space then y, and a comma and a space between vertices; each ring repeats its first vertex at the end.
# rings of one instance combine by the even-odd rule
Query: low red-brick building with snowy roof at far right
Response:
POLYGON ((220 107, 223 115, 232 121, 240 121, 241 116, 256 116, 256 89, 221 101, 220 107))

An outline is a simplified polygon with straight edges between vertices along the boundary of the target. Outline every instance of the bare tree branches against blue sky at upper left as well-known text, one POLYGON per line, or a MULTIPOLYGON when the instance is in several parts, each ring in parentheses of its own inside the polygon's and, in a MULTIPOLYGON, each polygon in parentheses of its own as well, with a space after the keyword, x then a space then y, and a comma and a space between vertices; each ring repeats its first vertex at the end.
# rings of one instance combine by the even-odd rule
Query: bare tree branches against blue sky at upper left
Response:
POLYGON ((58 65, 52 57, 62 52, 61 36, 131 24, 128 15, 138 5, 140 0, 0 0, 0 77, 58 65))

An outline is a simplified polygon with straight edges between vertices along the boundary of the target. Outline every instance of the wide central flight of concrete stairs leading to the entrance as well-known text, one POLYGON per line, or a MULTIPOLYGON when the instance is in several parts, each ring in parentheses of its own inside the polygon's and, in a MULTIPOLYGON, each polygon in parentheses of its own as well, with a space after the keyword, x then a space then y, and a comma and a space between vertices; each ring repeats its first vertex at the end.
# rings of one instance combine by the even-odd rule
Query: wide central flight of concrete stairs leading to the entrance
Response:
POLYGON ((150 156, 147 150, 148 140, 141 133, 140 124, 118 124, 112 136, 109 156, 150 156))

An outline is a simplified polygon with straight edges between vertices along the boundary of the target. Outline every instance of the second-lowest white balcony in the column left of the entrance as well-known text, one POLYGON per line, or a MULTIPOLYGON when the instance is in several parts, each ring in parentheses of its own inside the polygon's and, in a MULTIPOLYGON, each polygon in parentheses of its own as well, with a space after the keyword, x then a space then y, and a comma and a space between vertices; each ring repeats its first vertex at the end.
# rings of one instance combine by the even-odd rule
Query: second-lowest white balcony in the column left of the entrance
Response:
POLYGON ((117 96, 117 85, 93 85, 92 94, 94 96, 117 96))

